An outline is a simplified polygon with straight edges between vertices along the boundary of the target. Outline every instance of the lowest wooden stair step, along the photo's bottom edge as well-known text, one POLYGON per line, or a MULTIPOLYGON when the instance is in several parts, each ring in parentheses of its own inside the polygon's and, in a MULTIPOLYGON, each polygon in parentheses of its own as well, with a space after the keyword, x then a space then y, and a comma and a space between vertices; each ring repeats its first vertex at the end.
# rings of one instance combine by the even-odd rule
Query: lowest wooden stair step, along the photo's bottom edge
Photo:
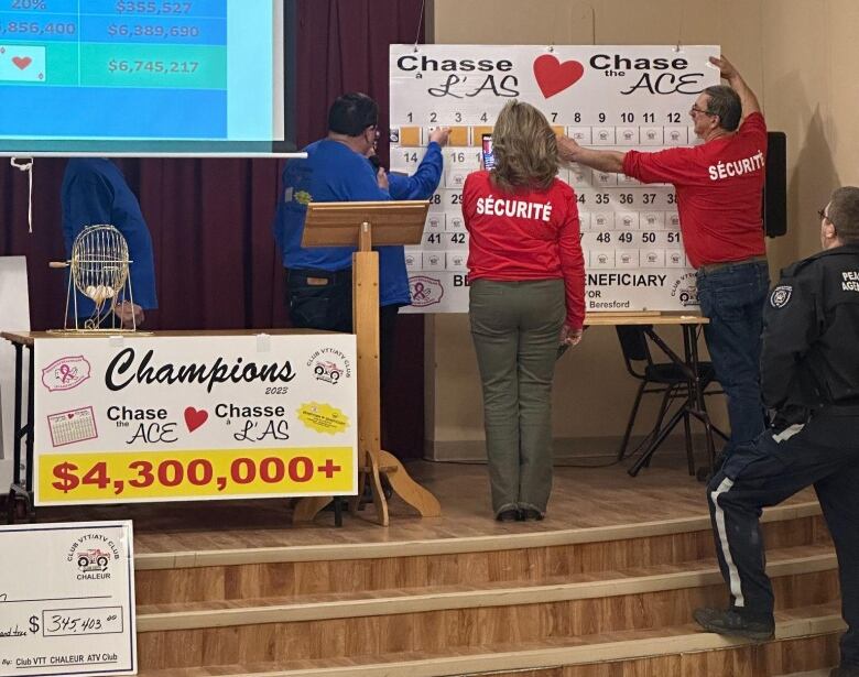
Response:
MULTIPOLYGON (((530 670, 564 677, 639 677, 644 675, 731 675, 775 677, 822 669, 837 660, 837 634, 844 624, 839 603, 776 614, 774 642, 748 641, 702 632, 695 624, 620 631, 579 637, 555 637, 511 645, 461 646, 442 652, 404 652, 349 658, 282 660, 208 668, 145 669, 140 677, 443 677, 530 670), (814 649, 809 651, 809 646, 814 649), (801 646, 802 645, 802 646, 801 646), (731 652, 737 653, 732 656, 731 652), (835 652, 835 653, 834 653, 835 652), (662 663, 660 663, 662 662, 662 663), (654 671, 653 664, 671 667, 654 671), (714 665, 736 665, 725 671, 714 665), (564 671, 555 671, 558 666, 564 671), (579 671, 577 668, 581 668, 579 671)), ((521 673, 520 673, 521 674, 521 673)))

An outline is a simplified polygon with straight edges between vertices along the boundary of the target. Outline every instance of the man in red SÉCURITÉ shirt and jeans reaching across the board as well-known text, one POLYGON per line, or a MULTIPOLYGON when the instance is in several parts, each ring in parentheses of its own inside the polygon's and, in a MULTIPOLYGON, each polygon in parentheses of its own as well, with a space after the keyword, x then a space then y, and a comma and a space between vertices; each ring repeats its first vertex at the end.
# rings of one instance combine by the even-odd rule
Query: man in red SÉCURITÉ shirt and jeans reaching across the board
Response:
POLYGON ((642 183, 671 183, 681 230, 697 269, 698 301, 709 318, 704 334, 716 375, 728 396, 729 455, 764 429, 760 356, 769 291, 761 194, 766 124, 754 94, 726 59, 710 58, 730 87, 708 87, 689 114, 704 143, 656 153, 594 151, 558 141, 562 160, 642 183))

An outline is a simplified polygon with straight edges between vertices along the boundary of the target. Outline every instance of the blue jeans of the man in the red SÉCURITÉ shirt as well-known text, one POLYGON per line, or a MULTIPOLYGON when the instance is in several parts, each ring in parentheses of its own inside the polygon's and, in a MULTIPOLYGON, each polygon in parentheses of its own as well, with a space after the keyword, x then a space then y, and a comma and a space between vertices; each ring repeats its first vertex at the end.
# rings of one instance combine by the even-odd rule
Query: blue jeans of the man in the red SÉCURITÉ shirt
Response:
POLYGON ((698 302, 710 320, 704 326, 704 337, 728 397, 731 437, 726 455, 764 429, 760 361, 769 288, 765 261, 731 264, 711 273, 698 271, 698 302))

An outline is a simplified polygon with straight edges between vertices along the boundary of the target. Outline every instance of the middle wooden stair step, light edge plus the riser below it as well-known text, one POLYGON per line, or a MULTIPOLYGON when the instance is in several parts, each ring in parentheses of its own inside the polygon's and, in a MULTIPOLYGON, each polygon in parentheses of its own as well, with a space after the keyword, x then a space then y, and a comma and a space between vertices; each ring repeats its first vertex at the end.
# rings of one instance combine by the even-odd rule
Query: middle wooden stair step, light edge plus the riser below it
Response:
MULTIPOLYGON (((774 552, 779 609, 838 600, 834 556, 774 552)), ((138 614, 143 668, 216 666, 250 660, 342 658, 367 653, 514 644, 597 633, 670 627, 695 608, 725 602, 710 570, 556 586, 467 590, 306 604, 272 604, 138 614)), ((659 630, 656 630, 659 632, 659 630)))

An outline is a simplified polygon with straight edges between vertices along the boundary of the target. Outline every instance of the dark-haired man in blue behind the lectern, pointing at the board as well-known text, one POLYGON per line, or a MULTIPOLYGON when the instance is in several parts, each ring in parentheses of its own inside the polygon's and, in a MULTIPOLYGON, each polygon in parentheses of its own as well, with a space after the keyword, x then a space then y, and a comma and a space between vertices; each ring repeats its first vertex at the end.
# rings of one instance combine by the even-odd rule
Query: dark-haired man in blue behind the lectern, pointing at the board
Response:
MULTIPOLYGON (((424 162, 413 176, 377 173, 368 161, 376 148, 379 107, 363 94, 338 97, 328 111, 328 135, 304 149, 306 160, 283 170, 282 195, 273 231, 286 269, 286 298, 293 326, 352 330, 352 247, 301 245, 307 204, 426 199, 442 176, 439 142, 449 131, 433 133, 424 162)), ((400 306, 411 303, 402 247, 380 247, 380 342, 382 374, 388 372, 394 323, 400 306)))

